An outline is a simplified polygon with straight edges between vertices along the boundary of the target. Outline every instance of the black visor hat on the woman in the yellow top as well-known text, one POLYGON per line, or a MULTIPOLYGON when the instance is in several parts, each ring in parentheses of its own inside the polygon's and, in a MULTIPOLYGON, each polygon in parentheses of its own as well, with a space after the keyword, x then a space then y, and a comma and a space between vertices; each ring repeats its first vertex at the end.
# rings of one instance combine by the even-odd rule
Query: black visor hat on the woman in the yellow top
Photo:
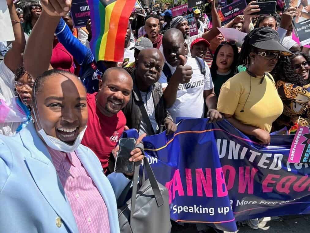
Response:
POLYGON ((249 43, 265 50, 279 51, 282 56, 290 56, 291 53, 279 42, 279 34, 271 27, 261 27, 250 37, 249 43))

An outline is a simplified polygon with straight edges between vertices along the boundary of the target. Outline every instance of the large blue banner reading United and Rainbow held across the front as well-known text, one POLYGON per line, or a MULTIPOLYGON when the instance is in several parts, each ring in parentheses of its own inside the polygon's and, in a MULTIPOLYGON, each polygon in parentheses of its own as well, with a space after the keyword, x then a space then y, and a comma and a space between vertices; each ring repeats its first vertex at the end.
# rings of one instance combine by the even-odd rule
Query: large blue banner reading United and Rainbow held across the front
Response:
POLYGON ((236 221, 310 213, 309 165, 288 161, 294 135, 272 135, 265 147, 228 121, 207 121, 183 120, 174 135, 144 139, 172 220, 236 231, 236 221))

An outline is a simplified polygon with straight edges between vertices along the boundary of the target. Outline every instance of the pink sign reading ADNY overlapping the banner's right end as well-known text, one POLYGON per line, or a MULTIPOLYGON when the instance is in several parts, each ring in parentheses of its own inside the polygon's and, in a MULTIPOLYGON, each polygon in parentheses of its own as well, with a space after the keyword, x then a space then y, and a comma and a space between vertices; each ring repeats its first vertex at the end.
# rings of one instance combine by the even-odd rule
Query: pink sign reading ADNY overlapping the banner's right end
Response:
POLYGON ((289 154, 290 163, 310 163, 310 128, 299 126, 289 154))

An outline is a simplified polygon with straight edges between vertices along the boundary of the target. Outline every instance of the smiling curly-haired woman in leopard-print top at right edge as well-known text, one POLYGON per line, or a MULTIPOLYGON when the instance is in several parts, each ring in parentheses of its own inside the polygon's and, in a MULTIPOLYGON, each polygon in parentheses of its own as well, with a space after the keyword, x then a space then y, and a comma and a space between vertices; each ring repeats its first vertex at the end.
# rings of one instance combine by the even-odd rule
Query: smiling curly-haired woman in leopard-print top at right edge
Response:
POLYGON ((277 126, 310 125, 310 58, 303 52, 279 60, 273 71, 278 93, 284 105, 277 126))

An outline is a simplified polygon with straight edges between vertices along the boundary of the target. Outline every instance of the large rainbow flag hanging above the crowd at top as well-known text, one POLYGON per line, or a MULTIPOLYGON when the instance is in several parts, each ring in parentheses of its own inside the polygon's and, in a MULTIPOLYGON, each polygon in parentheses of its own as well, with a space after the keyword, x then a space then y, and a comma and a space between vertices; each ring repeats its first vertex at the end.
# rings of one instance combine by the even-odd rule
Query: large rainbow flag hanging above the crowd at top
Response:
POLYGON ((96 61, 122 62, 128 19, 136 0, 88 0, 96 61))

